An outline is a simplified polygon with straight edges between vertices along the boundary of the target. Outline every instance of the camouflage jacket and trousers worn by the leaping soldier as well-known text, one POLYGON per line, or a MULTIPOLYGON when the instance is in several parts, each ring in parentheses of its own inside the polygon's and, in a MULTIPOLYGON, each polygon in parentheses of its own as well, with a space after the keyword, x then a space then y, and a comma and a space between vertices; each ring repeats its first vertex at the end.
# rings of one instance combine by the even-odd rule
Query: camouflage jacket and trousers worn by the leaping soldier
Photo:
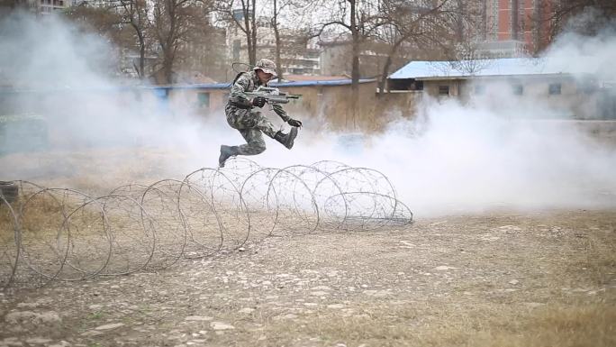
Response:
MULTIPOLYGON (((224 109, 227 123, 231 125, 231 128, 237 129, 247 142, 238 146, 237 154, 240 155, 256 155, 266 150, 266 143, 263 141, 261 132, 272 139, 276 135, 274 125, 265 115, 253 109, 250 97, 245 94, 245 92, 254 91, 259 86, 261 84, 257 71, 251 70, 240 74, 231 87, 229 102, 224 109)), ((267 84, 264 87, 267 87, 267 84)), ((290 119, 282 106, 272 105, 272 107, 283 121, 287 122, 290 119)))

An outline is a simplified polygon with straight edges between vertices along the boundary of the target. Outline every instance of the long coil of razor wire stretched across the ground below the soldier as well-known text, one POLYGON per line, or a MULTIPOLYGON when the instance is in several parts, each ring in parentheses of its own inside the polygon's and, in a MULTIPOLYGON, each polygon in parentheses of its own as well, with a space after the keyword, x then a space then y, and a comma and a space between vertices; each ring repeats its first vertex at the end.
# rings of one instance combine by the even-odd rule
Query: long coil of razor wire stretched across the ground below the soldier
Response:
POLYGON ((335 161, 272 169, 232 159, 226 169, 104 196, 24 180, 4 184, 18 194, 0 190, 2 288, 166 269, 273 235, 412 222, 384 174, 335 161))

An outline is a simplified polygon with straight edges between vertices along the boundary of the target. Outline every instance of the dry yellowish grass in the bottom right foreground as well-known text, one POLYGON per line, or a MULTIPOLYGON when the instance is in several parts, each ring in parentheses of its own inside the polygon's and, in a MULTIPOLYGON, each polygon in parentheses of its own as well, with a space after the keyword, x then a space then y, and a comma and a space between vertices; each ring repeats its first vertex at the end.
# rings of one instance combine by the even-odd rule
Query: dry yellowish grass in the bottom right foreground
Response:
MULTIPOLYGON (((517 297, 512 294, 503 300, 465 297, 460 290, 451 297, 420 300, 351 300, 344 306, 353 307, 353 315, 322 309, 293 325, 269 320, 264 334, 268 342, 288 346, 615 346, 614 236, 608 229, 567 239, 562 258, 547 269, 559 279, 545 277, 538 282, 548 296, 516 292, 517 297), (570 294, 561 291, 565 284, 586 289, 570 294)), ((526 244, 533 247, 532 243, 526 244)), ((540 260, 530 263, 547 265, 540 260)), ((473 287, 472 281, 464 279, 462 283, 468 291, 491 287, 473 287)))

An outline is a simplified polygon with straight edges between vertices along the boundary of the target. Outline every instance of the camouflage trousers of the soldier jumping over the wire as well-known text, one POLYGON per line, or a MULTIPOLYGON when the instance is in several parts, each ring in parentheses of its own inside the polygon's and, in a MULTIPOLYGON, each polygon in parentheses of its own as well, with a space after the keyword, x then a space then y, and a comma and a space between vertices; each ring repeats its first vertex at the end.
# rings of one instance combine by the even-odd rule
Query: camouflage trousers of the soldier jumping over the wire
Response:
POLYGON ((227 106, 227 123, 231 128, 237 129, 246 140, 245 144, 238 146, 240 155, 257 155, 266 150, 263 133, 274 138, 276 130, 266 116, 258 111, 227 106))

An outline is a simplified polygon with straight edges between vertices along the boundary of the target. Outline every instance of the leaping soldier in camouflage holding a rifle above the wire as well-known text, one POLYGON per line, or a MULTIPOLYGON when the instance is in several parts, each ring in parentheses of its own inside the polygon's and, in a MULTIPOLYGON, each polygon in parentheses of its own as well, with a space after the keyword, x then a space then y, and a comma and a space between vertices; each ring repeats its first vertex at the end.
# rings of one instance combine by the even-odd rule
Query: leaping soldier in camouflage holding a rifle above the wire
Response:
POLYGON ((276 64, 269 59, 260 59, 251 71, 240 73, 233 81, 229 102, 225 106, 224 112, 227 114, 227 123, 231 125, 231 128, 237 129, 247 143, 240 146, 222 145, 221 156, 218 158, 218 164, 221 168, 224 167, 224 162, 232 156, 257 155, 265 151, 266 144, 261 132, 282 143, 289 150, 293 147, 297 130, 302 126, 302 122, 289 117, 281 105, 273 104, 274 112, 283 121, 291 125, 289 133, 276 132, 274 125, 269 122, 267 117, 260 111, 253 109, 253 107, 263 107, 266 104, 266 98, 263 96, 250 98, 245 94, 260 86, 267 87, 267 82, 275 76, 276 64))

